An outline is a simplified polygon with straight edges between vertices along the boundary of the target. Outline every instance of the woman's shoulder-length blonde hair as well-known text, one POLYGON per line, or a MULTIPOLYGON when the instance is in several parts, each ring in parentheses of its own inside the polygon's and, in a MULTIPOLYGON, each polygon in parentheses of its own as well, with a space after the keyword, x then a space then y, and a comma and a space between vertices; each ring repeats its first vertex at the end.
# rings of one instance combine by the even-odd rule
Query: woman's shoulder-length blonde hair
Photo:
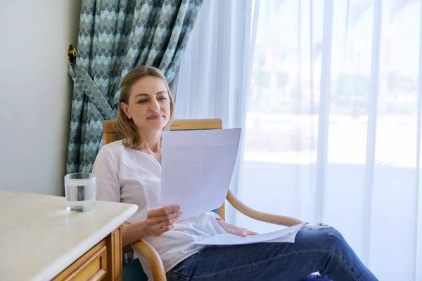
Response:
POLYGON ((129 119, 126 114, 124 114, 120 103, 126 103, 127 105, 129 104, 130 89, 132 85, 143 77, 155 77, 161 79, 167 88, 167 93, 169 94, 170 98, 170 119, 163 130, 170 129, 170 124, 172 123, 174 117, 174 98, 164 74, 162 74, 162 72, 160 72, 160 70, 157 68, 151 66, 138 66, 129 71, 120 83, 120 99, 118 104, 119 109, 117 112, 117 122, 115 129, 116 131, 122 133, 123 145, 135 150, 139 150, 143 147, 143 140, 139 138, 138 129, 134 124, 134 120, 129 119))

